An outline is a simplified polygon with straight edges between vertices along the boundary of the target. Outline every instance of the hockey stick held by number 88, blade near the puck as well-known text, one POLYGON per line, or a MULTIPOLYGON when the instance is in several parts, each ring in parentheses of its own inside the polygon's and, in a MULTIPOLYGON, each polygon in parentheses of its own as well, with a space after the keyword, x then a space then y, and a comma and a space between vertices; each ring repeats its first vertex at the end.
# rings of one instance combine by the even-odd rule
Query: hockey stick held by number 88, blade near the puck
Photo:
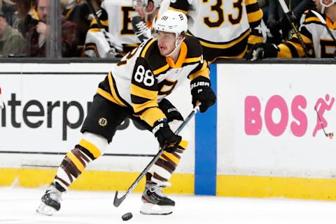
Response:
MULTIPOLYGON (((179 126, 179 128, 176 129, 175 135, 178 135, 181 132, 181 130, 186 126, 186 124, 188 124, 190 119, 192 119, 194 117, 194 115, 197 113, 197 111, 200 110, 200 105, 201 105, 201 103, 197 103, 197 105, 194 107, 193 111, 190 112, 188 117, 186 117, 185 121, 183 121, 183 123, 179 126)), ((141 174, 139 174, 139 177, 137 177, 137 179, 135 179, 133 184, 130 186, 130 188, 128 188, 128 190, 126 191, 126 193, 124 193, 123 196, 118 198, 118 191, 116 191, 116 195, 114 196, 114 201, 113 201, 113 205, 115 207, 118 207, 125 200, 127 195, 130 194, 131 191, 133 191, 135 186, 137 186, 137 184, 139 184, 139 181, 141 181, 141 179, 145 176, 145 174, 148 172, 148 170, 151 169, 151 167, 154 165, 154 163, 156 163, 156 161, 160 158, 160 156, 165 151, 166 147, 167 147, 167 145, 165 145, 164 147, 162 147, 159 150, 158 154, 156 154, 156 156, 154 156, 154 158, 151 160, 151 162, 148 163, 146 168, 141 172, 141 174)))

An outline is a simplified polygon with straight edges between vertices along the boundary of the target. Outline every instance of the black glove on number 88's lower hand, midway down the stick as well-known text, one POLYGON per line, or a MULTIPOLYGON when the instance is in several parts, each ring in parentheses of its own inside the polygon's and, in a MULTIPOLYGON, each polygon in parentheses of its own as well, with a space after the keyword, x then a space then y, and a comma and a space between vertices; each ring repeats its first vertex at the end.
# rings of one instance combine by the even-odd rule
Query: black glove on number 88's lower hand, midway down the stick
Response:
POLYGON ((167 124, 167 119, 160 119, 153 126, 153 134, 158 140, 160 147, 165 147, 165 151, 173 153, 179 146, 182 137, 175 135, 167 124))

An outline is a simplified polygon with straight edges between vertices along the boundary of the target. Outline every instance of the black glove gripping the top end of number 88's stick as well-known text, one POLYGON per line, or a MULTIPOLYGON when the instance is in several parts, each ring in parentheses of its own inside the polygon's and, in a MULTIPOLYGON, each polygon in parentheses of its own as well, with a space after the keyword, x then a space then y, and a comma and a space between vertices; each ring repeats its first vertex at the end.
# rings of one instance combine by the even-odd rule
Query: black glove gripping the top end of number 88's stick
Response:
POLYGON ((216 95, 211 89, 210 80, 199 76, 190 82, 191 95, 193 96, 193 106, 201 102, 200 112, 206 112, 209 107, 216 103, 216 95))

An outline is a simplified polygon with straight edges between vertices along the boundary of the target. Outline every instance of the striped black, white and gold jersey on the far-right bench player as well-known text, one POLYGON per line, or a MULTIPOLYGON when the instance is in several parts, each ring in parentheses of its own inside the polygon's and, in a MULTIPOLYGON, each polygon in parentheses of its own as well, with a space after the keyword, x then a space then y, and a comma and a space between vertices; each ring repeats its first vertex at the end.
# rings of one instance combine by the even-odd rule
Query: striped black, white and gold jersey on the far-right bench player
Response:
MULTIPOLYGON (((316 12, 317 13, 317 12, 316 12)), ((328 29, 336 36, 336 23, 332 24, 328 17, 322 15, 327 22, 328 29)), ((336 43, 323 26, 321 20, 316 17, 312 10, 307 10, 301 17, 300 35, 306 45, 309 57, 330 58, 336 50, 336 43)), ((293 38, 279 45, 278 57, 304 57, 303 47, 296 34, 293 38)))

